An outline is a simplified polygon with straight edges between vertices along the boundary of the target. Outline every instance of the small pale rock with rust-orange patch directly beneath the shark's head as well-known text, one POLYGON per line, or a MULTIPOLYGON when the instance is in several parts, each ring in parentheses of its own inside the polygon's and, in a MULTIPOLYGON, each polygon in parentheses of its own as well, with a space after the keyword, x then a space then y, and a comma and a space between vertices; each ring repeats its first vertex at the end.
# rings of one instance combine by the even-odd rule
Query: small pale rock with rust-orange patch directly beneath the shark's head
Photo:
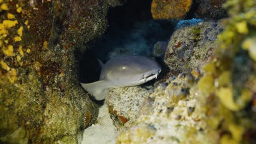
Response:
POLYGON ((131 126, 148 94, 147 89, 139 86, 115 88, 109 92, 106 104, 117 129, 131 126))

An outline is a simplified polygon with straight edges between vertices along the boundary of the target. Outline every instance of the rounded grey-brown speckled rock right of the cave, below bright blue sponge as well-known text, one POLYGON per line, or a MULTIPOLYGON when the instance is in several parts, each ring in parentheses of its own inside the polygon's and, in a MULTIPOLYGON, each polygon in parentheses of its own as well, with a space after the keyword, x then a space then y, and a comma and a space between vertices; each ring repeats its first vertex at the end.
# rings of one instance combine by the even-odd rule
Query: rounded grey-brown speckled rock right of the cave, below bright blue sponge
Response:
POLYGON ((182 27, 175 31, 164 58, 170 73, 177 75, 189 72, 209 62, 217 47, 217 35, 222 29, 219 23, 201 22, 199 25, 182 27))

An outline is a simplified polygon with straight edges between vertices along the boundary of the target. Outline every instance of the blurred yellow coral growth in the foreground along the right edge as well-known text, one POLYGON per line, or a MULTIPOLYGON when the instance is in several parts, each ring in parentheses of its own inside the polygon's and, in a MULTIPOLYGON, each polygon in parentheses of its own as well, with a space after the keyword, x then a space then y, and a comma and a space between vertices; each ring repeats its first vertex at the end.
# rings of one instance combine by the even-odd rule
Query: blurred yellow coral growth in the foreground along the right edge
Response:
POLYGON ((222 134, 220 143, 254 143, 256 2, 230 0, 224 7, 229 9, 229 17, 218 35, 216 58, 205 66, 198 85, 202 92, 207 91, 207 97, 216 95, 219 100, 213 120, 222 134))

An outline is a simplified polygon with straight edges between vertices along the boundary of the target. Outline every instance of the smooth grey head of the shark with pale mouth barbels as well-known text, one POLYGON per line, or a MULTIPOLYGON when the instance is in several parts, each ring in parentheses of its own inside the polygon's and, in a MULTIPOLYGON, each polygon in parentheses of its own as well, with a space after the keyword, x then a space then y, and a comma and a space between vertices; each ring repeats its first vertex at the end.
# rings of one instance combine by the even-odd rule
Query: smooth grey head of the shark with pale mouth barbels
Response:
POLYGON ((155 79, 160 72, 154 58, 121 55, 103 65, 100 79, 110 81, 115 87, 136 86, 155 79))

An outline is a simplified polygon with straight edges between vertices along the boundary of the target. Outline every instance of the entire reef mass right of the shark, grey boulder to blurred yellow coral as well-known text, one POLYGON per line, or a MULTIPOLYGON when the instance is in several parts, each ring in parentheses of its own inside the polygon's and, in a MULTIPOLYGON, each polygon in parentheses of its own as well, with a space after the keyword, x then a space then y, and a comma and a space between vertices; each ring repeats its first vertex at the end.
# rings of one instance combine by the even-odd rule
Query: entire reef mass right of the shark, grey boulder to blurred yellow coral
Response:
POLYGON ((255 142, 256 3, 230 0, 224 7, 223 32, 219 23, 203 22, 173 33, 165 62, 174 76, 158 82, 118 143, 255 142), (189 42, 176 50, 182 38, 189 42))

